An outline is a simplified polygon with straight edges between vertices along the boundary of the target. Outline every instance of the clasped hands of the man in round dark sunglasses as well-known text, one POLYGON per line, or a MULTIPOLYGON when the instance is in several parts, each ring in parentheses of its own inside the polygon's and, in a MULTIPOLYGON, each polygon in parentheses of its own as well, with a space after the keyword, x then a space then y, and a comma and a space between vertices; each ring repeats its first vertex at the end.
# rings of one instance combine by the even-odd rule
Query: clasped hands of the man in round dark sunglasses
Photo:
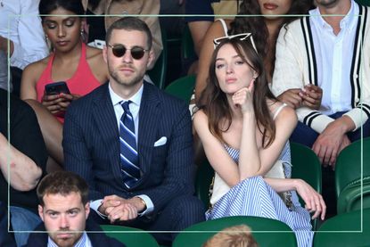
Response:
POLYGON ((138 197, 124 199, 113 194, 103 198, 98 210, 114 223, 137 218, 137 213, 144 210, 144 203, 138 197))

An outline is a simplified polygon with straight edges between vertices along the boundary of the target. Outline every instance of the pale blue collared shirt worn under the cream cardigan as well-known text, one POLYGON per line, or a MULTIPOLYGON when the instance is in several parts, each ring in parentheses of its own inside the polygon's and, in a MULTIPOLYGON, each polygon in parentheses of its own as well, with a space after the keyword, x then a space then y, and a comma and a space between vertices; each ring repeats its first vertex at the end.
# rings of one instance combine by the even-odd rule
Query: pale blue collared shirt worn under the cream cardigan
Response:
POLYGON ((349 12, 340 22, 338 35, 333 33, 333 28, 323 19, 318 8, 309 12, 317 62, 317 85, 323 88, 320 110, 325 115, 352 109, 349 78, 358 12, 358 4, 352 0, 349 12))

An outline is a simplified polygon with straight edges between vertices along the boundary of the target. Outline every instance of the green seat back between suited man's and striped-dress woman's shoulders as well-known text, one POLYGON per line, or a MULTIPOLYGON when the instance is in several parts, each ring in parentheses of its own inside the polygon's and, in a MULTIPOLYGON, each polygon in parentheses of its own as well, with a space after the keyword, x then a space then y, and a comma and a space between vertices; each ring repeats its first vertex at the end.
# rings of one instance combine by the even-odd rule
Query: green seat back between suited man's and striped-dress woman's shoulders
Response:
POLYGON ((186 76, 183 78, 177 78, 173 82, 166 86, 164 89, 169 95, 174 95, 177 98, 185 100, 186 103, 190 103, 190 98, 193 95, 195 86, 195 76, 186 76))

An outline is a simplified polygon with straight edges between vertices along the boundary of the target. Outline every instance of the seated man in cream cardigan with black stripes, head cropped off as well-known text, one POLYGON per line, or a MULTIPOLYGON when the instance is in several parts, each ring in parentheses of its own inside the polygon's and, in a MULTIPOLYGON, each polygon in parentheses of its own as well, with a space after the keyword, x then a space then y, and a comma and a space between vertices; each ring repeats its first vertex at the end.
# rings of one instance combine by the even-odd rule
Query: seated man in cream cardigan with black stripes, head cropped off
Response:
POLYGON ((316 2, 309 17, 280 32, 272 91, 300 119, 291 140, 334 169, 361 127, 370 135, 370 17, 353 0, 316 2))

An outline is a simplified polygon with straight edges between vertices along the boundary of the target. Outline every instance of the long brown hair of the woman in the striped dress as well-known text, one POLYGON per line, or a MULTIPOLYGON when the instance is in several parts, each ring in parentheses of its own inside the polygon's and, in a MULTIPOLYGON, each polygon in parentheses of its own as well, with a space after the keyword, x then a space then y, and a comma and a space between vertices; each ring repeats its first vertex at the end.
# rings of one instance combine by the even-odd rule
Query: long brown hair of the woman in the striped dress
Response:
POLYGON ((273 102, 277 100, 268 87, 262 59, 251 45, 251 39, 240 40, 238 37, 234 37, 222 41, 216 47, 212 54, 207 86, 201 93, 197 107, 208 116, 210 133, 216 136, 221 142, 226 143, 222 137, 222 133, 230 128, 233 116, 226 94, 219 86, 215 70, 218 51, 226 44, 233 45, 236 53, 243 59, 243 62, 246 62, 259 75, 254 82, 253 109, 257 126, 262 134, 262 146, 266 148, 275 139, 275 122, 270 115, 267 99, 273 102))

